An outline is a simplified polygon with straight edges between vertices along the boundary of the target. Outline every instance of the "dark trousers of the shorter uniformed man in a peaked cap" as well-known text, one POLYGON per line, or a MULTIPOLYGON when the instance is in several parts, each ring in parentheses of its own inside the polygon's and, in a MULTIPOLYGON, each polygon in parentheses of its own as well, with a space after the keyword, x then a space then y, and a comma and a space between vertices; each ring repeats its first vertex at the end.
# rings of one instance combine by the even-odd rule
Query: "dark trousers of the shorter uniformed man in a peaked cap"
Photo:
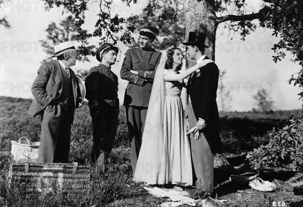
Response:
POLYGON ((92 107, 89 111, 93 129, 91 163, 102 167, 104 170, 119 125, 119 109, 106 105, 92 107))

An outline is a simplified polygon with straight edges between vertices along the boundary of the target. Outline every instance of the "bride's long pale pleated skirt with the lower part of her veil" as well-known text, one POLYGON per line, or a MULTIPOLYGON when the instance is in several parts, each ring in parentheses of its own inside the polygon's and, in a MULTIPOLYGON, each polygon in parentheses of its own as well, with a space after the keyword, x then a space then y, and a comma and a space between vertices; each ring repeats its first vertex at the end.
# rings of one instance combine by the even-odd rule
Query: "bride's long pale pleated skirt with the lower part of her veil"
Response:
POLYGON ((180 96, 167 95, 164 106, 163 140, 157 136, 161 123, 145 123, 134 180, 151 185, 192 185, 190 147, 180 96))

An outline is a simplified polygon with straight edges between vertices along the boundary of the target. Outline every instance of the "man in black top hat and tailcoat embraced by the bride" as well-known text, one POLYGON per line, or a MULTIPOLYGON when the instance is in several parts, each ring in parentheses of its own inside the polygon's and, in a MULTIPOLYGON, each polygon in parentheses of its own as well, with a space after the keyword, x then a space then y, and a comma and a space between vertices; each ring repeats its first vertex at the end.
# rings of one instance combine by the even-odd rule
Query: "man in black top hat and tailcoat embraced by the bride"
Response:
MULTIPOLYGON (((191 60, 201 63, 209 59, 205 55, 206 34, 189 32, 184 42, 191 60)), ((214 154, 221 152, 219 113, 216 102, 219 69, 209 63, 194 72, 187 83, 189 127, 198 133, 191 138, 193 169, 197 178, 196 187, 206 192, 214 189, 214 154)))

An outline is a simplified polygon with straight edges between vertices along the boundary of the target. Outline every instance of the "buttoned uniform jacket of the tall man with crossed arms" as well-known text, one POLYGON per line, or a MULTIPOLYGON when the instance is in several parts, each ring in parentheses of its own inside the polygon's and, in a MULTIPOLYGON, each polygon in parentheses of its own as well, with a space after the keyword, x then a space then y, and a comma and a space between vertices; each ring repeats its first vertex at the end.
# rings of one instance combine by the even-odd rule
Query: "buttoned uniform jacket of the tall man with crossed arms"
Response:
POLYGON ((148 107, 155 70, 160 58, 161 53, 151 47, 132 48, 126 51, 121 68, 121 78, 129 81, 125 90, 124 106, 148 107), (138 71, 138 75, 131 73, 130 70, 138 71))

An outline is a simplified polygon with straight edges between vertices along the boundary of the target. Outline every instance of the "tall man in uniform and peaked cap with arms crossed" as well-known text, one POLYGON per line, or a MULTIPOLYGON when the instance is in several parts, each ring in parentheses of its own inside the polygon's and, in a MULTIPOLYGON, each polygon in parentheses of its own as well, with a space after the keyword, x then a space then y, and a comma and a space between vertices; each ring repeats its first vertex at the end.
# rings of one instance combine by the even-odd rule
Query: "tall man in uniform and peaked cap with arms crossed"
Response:
POLYGON ((161 53, 151 47, 159 34, 159 30, 152 26, 143 25, 139 27, 139 34, 140 47, 126 51, 121 68, 121 78, 129 81, 125 90, 123 105, 126 107, 133 172, 135 172, 141 147, 141 134, 145 124, 155 70, 161 57, 161 53), (132 73, 131 70, 137 71, 138 74, 132 73))

